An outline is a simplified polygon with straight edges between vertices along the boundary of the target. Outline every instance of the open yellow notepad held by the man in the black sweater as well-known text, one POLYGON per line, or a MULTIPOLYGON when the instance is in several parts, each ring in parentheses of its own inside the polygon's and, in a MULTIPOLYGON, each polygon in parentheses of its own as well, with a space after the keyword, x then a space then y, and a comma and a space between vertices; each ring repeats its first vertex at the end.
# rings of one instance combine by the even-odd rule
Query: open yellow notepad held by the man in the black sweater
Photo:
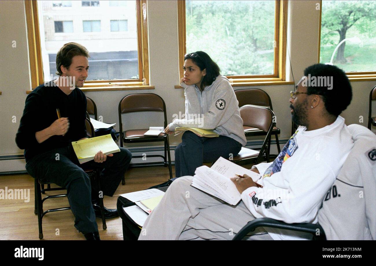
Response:
POLYGON ((106 155, 120 151, 111 134, 73 141, 72 146, 80 164, 94 160, 98 151, 102 151, 106 155))

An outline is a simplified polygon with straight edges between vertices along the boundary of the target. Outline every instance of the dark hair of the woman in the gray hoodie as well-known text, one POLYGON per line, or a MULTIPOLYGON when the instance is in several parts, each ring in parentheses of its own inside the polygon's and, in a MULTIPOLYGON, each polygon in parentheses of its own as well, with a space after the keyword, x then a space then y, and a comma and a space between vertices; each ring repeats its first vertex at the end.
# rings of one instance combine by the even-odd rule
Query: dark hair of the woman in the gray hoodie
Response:
POLYGON ((190 53, 184 57, 184 61, 186 59, 192 59, 193 63, 195 63, 200 68, 201 71, 206 69, 206 75, 204 76, 201 82, 201 84, 204 87, 211 85, 213 81, 215 80, 215 78, 220 75, 221 70, 219 66, 217 65, 217 63, 215 63, 210 58, 210 56, 203 51, 190 53), (195 54, 195 53, 198 54, 199 56, 193 57, 192 54, 195 54))

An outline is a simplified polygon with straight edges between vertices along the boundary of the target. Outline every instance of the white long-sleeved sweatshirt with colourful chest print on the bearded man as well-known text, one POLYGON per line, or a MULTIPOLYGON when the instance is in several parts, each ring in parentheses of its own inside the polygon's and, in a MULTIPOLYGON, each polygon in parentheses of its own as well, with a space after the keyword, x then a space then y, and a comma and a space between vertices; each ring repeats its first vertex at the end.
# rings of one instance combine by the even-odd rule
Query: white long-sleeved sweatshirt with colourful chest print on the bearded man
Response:
MULTIPOLYGON (((256 218, 317 223, 323 198, 353 147, 344 118, 317 130, 300 126, 273 163, 260 163, 264 186, 249 187, 241 198, 256 218)), ((307 234, 265 228, 274 240, 306 239, 307 234)))

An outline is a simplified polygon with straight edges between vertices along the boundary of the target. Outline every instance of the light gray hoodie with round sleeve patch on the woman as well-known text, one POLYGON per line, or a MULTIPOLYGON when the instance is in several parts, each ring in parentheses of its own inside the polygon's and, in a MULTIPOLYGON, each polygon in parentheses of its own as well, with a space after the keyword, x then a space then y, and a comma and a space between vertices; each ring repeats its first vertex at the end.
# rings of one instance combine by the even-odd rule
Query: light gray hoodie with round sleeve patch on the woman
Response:
POLYGON ((246 145, 238 100, 226 77, 219 75, 203 91, 196 85, 182 83, 180 86, 184 88, 185 118, 175 119, 169 124, 171 131, 176 127, 210 129, 218 135, 235 139, 243 147, 246 145))

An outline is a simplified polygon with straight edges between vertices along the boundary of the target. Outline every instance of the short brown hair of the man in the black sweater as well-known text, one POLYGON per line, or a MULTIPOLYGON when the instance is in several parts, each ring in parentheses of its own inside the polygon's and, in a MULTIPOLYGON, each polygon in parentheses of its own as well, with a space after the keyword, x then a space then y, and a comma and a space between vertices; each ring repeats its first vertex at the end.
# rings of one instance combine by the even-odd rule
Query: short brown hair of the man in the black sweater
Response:
POLYGON ((60 48, 56 54, 56 75, 62 75, 61 66, 69 68, 72 63, 72 58, 77 55, 85 56, 89 58, 88 50, 81 44, 77 42, 68 42, 60 48))

